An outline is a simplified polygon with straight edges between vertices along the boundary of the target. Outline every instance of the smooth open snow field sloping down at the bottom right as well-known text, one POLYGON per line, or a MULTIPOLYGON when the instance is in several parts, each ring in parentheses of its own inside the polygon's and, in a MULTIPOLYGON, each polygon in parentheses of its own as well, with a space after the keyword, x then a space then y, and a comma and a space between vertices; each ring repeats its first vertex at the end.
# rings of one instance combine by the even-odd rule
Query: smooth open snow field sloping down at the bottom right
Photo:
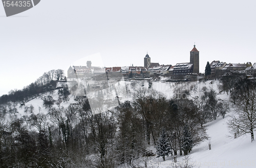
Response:
MULTIPOLYGON (((210 140, 202 142, 193 148, 188 156, 188 164, 195 167, 256 167, 256 143, 251 143, 250 135, 238 137, 236 139, 228 132, 226 122, 233 115, 233 111, 228 113, 223 119, 219 117, 216 121, 207 124, 207 134, 210 140), (211 150, 209 150, 209 144, 211 150)), ((163 161, 161 157, 148 159, 149 167, 173 167, 173 165, 183 165, 185 156, 168 156, 163 161)), ((141 165, 143 165, 141 163, 141 165)))

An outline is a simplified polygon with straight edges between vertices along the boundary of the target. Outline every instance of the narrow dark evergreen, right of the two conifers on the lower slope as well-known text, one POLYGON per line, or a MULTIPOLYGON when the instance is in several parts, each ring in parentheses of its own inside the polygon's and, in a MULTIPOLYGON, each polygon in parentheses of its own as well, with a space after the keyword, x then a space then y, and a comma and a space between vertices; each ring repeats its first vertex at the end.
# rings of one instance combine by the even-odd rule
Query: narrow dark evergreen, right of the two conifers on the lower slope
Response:
POLYGON ((191 132, 189 131, 188 126, 185 126, 183 129, 183 139, 182 139, 182 150, 184 155, 187 155, 193 147, 193 141, 191 137, 191 132))

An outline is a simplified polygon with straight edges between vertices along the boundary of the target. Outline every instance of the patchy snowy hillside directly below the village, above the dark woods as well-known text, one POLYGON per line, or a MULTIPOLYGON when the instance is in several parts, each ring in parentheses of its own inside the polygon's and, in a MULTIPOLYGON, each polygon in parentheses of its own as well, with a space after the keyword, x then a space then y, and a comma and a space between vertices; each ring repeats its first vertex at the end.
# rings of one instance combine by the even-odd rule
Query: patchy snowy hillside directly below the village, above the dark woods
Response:
MULTIPOLYGON (((93 81, 81 81, 81 83, 83 84, 83 86, 86 87, 86 90, 88 90, 87 85, 90 82, 90 84, 92 85, 93 81)), ((98 82, 99 83, 99 82, 98 82)), ((158 82, 152 82, 152 88, 156 91, 159 91, 160 93, 164 94, 164 96, 167 99, 170 98, 175 98, 175 97, 184 97, 184 98, 188 98, 188 99, 192 99, 193 97, 196 97, 199 95, 201 89, 203 87, 206 88, 213 88, 215 90, 218 91, 218 81, 213 82, 212 84, 210 83, 210 81, 207 82, 165 82, 165 81, 158 81, 158 82), (186 95, 183 94, 182 91, 184 90, 189 90, 190 94, 186 95), (176 95, 174 94, 176 93, 176 95)), ((60 85, 60 83, 58 83, 58 86, 64 86, 66 85, 65 83, 62 83, 60 85)), ((69 86, 69 89, 72 89, 72 85, 70 83, 67 83, 67 85, 69 86)), ((102 85, 98 84, 100 87, 102 87, 102 85)), ((135 90, 139 89, 139 88, 148 88, 149 87, 149 83, 148 81, 119 81, 119 82, 115 82, 114 83, 115 88, 117 93, 115 93, 113 87, 108 87, 106 89, 100 90, 103 92, 103 99, 109 99, 112 98, 114 105, 117 105, 117 103, 115 102, 116 100, 114 100, 115 95, 117 94, 120 97, 120 102, 124 102, 126 100, 132 100, 133 98, 133 93, 135 92, 135 90), (110 96, 109 93, 111 93, 110 96)), ((96 97, 97 93, 99 90, 96 91, 92 91, 88 94, 88 97, 96 97)), ((63 106, 63 107, 68 107, 70 103, 75 103, 74 101, 74 97, 76 95, 79 95, 81 91, 79 89, 76 90, 76 92, 71 92, 71 95, 69 95, 70 100, 68 102, 64 102, 62 101, 60 103, 59 106, 63 106)), ((50 95, 52 96, 52 98, 54 100, 58 100, 58 90, 55 90, 53 93, 45 93, 45 94, 41 94, 39 97, 32 99, 29 102, 26 102, 26 106, 30 106, 33 105, 34 106, 34 113, 43 113, 43 114, 47 114, 48 113, 48 109, 46 109, 42 104, 43 104, 43 100, 41 99, 41 96, 47 96, 50 95)), ((219 98, 221 99, 228 99, 226 94, 220 94, 218 95, 219 98)), ((55 103, 53 105, 53 107, 58 107, 57 104, 55 103)), ((114 107, 114 106, 113 106, 114 107)), ((24 106, 16 106, 17 111, 18 111, 18 116, 22 117, 24 115, 26 115, 26 113, 24 113, 24 106)))

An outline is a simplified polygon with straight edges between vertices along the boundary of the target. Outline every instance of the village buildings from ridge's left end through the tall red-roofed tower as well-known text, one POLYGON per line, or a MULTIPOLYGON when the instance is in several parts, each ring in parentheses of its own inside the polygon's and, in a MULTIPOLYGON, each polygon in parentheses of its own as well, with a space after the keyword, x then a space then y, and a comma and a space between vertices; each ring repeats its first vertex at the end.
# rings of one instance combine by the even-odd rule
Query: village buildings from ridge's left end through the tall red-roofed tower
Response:
POLYGON ((199 51, 196 46, 190 51, 189 63, 178 63, 175 66, 160 65, 152 63, 150 55, 146 54, 144 66, 125 66, 125 67, 93 67, 92 62, 88 61, 87 66, 70 66, 68 69, 68 78, 94 76, 103 73, 117 74, 121 73, 126 77, 150 77, 150 76, 172 76, 173 78, 184 78, 186 75, 199 75, 199 51))

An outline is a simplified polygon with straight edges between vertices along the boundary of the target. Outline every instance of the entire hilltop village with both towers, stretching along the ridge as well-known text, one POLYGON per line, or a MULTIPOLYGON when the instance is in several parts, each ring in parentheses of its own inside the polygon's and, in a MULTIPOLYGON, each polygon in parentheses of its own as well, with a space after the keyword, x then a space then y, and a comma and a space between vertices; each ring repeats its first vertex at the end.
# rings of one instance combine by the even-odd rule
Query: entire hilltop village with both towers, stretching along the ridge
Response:
MULTIPOLYGON (((221 61, 212 61, 210 63, 210 75, 207 78, 219 78, 233 72, 244 73, 252 76, 256 72, 256 63, 246 64, 229 63, 221 61)), ((199 73, 199 50, 194 45, 190 51, 189 62, 177 63, 176 65, 160 65, 152 63, 150 55, 144 57, 144 66, 125 66, 125 67, 93 67, 91 61, 87 61, 87 66, 70 66, 68 69, 68 78, 93 77, 100 74, 120 75, 125 78, 147 78, 166 76, 171 80, 191 80, 196 81, 198 77, 205 77, 204 73, 199 73)))

